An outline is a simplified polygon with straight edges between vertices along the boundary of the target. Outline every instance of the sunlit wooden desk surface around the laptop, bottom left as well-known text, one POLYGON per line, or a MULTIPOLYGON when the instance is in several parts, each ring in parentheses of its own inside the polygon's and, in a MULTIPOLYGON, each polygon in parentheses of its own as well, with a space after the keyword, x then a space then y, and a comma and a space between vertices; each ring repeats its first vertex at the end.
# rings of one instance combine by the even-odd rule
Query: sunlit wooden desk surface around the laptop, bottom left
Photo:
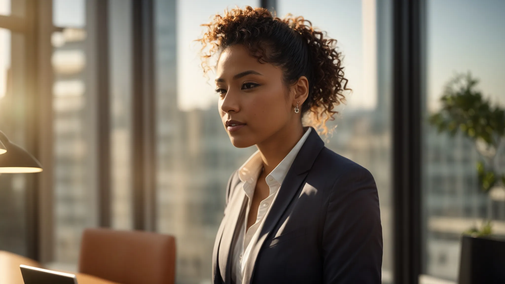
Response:
MULTIPOLYGON (((19 265, 29 265, 39 268, 42 267, 38 262, 6 251, 0 251, 0 284, 24 284, 23 276, 19 265)), ((67 272, 68 271, 60 271, 67 272)), ((72 273, 77 276, 78 284, 118 284, 102 278, 94 277, 84 273, 72 273)))

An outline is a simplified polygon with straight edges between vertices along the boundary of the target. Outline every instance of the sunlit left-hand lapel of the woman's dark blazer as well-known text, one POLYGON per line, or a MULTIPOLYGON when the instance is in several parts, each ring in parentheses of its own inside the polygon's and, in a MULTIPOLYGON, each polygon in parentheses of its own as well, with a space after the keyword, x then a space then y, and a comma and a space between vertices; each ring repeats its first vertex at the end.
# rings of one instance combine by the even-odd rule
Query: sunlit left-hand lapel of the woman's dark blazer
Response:
POLYGON ((245 205, 247 205, 245 202, 246 195, 242 190, 242 185, 243 182, 239 182, 236 185, 233 191, 233 197, 228 203, 229 210, 225 215, 228 217, 226 217, 226 222, 224 222, 221 242, 218 249, 219 270, 225 283, 230 283, 231 281, 230 251, 233 251, 232 241, 233 237, 236 236, 235 231, 237 230, 237 221, 240 217, 240 213, 243 212, 245 205))

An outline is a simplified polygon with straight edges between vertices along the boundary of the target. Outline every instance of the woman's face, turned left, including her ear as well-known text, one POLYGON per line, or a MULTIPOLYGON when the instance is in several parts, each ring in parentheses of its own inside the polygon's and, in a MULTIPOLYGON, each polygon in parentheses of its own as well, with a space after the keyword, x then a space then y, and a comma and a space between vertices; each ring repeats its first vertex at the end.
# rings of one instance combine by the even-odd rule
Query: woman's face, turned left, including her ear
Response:
POLYGON ((259 144, 293 119, 299 121, 300 113, 294 117, 293 108, 300 101, 301 109, 305 98, 295 98, 296 91, 286 90, 282 83, 281 69, 259 63, 243 45, 233 45, 221 53, 216 78, 219 113, 233 146, 259 144))

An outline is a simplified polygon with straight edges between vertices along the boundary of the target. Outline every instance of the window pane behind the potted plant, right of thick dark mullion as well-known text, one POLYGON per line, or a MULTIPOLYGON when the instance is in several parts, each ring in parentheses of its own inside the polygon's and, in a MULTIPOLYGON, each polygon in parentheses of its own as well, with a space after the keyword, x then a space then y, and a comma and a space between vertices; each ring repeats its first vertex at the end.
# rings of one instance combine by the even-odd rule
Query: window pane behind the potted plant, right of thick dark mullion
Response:
MULTIPOLYGON (((426 115, 437 112, 445 83, 455 73, 471 72, 480 79, 477 88, 484 97, 503 107, 505 82, 505 35, 496 27, 505 25, 499 11, 505 9, 500 1, 427 1, 426 115), (457 7, 457 8, 456 8, 457 7), (471 40, 469 40, 471 37, 471 40)), ((495 227, 502 226, 503 202, 488 203, 488 196, 479 193, 477 184, 477 155, 475 147, 463 135, 449 137, 437 134, 434 127, 423 121, 426 151, 437 155, 424 161, 424 229, 426 273, 456 280, 459 271, 460 236, 477 219, 493 212, 495 227), (440 150, 437 148, 440 147, 440 150), (443 184, 433 191, 429 184, 443 184), (488 205, 489 204, 489 205, 488 205), (492 210, 494 209, 494 210, 492 210), (499 224, 499 225, 498 225, 499 224), (439 232, 435 234, 434 232, 439 232)), ((495 231, 495 233, 504 233, 495 231)))

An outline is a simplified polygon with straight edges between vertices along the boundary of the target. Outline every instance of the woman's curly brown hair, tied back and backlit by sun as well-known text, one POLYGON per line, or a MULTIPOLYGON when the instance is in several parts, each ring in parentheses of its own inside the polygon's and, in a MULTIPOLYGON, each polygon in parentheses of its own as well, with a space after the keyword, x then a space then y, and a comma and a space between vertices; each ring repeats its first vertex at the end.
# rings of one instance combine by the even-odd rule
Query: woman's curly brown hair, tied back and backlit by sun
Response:
POLYGON ((203 45, 200 57, 205 75, 217 66, 209 66, 214 54, 242 44, 258 62, 281 68, 286 86, 300 76, 307 77, 309 95, 301 106, 301 116, 323 134, 328 133, 326 122, 338 114, 334 107, 345 104, 343 92, 351 90, 344 78, 341 53, 336 51, 336 39, 328 38, 327 32, 313 27, 304 17, 287 14, 280 19, 267 9, 250 6, 225 9, 224 16, 216 14, 210 23, 200 26, 208 28, 202 38, 194 40, 203 45), (306 113, 309 115, 304 116, 306 113))

